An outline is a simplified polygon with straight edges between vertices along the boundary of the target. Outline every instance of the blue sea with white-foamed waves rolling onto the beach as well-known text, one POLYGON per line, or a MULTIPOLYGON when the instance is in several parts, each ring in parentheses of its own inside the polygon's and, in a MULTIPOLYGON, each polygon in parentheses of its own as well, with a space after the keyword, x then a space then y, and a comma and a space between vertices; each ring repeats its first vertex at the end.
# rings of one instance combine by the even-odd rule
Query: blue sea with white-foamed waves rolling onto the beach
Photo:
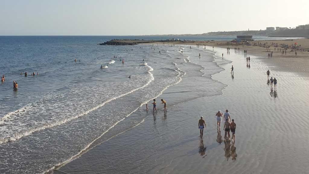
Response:
POLYGON ((197 84, 188 98, 174 104, 203 96, 207 89, 214 89, 207 95, 220 94, 224 87, 210 78, 222 70, 213 62, 211 51, 204 50, 204 59, 199 59, 201 50, 196 47, 97 45, 115 38, 171 37, 0 37, 0 74, 6 77, 0 84, 0 156, 4 159, 0 173, 46 172, 70 161, 139 107, 151 105, 149 101, 171 85, 197 84), (33 72, 39 75, 32 76, 33 72), (201 73, 207 78, 201 79, 201 73), (13 80, 19 84, 18 91, 13 91, 13 80))

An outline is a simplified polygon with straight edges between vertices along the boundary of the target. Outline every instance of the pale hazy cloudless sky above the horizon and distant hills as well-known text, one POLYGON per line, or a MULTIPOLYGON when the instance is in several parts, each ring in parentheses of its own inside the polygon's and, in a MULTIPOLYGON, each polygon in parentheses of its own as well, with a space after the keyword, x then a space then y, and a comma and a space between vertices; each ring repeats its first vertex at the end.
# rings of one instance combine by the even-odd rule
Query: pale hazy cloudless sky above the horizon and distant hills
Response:
POLYGON ((0 35, 151 35, 308 24, 309 0, 0 0, 0 35))

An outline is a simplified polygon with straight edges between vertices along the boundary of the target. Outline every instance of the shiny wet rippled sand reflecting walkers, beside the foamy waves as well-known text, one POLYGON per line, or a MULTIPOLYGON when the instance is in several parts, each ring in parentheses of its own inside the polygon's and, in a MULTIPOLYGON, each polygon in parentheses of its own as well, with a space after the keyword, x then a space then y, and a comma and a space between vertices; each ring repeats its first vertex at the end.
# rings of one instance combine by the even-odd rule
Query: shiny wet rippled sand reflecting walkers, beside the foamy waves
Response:
MULTIPOLYGON (((230 54, 226 48, 214 51, 218 55, 214 61, 225 69, 212 76, 226 86, 222 94, 174 105, 174 100, 192 96, 174 85, 158 98, 158 113, 138 110, 131 116, 146 114, 141 124, 116 134, 54 173, 307 173, 309 81, 303 69, 307 60, 286 69, 248 54, 249 68, 243 50, 235 53, 231 49, 230 54), (267 84, 268 69, 278 80, 276 92, 267 84), (160 98, 167 101, 166 114, 160 98), (215 114, 226 109, 237 124, 234 143, 219 141, 224 131, 223 125, 217 129, 215 114), (200 116, 207 123, 203 139, 197 124, 200 116)), ((113 129, 121 129, 128 121, 113 129)))

